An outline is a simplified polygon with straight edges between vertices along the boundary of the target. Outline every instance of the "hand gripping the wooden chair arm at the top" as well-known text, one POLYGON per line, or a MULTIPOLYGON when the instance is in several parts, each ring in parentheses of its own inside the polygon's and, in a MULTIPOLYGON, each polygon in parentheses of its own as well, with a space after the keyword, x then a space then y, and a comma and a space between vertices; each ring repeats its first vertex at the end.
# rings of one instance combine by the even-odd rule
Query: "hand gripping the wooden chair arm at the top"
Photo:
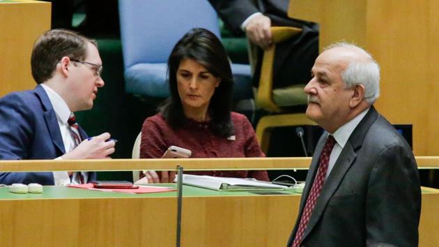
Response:
POLYGON ((245 33, 250 42, 267 50, 272 44, 271 20, 265 15, 255 15, 245 26, 245 33))

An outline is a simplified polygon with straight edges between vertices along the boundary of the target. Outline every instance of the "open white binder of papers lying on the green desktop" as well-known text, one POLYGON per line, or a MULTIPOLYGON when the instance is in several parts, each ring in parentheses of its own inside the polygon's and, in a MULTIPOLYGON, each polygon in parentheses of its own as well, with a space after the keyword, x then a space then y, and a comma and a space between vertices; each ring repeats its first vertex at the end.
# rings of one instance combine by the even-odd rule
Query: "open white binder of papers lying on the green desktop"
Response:
MULTIPOLYGON (((177 181, 177 178, 175 179, 177 181)), ((238 179, 233 177, 212 177, 183 174, 183 184, 208 188, 211 190, 287 190, 288 186, 271 184, 256 179, 238 179)))

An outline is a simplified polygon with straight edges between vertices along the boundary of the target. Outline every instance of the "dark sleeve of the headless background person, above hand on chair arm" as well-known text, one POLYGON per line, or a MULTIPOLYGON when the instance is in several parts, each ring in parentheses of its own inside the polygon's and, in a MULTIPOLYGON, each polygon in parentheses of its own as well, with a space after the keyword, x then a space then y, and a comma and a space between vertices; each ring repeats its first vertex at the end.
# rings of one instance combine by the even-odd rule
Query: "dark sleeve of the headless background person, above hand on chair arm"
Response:
POLYGON ((227 29, 236 35, 242 34, 240 25, 250 15, 259 12, 249 0, 209 0, 227 29))

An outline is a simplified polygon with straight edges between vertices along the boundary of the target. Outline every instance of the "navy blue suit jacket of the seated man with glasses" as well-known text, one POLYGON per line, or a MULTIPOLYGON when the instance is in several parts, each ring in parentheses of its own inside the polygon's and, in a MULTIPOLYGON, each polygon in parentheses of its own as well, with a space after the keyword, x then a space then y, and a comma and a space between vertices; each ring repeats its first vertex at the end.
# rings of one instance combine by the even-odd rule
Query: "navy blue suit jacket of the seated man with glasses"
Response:
MULTIPOLYGON (((84 140, 86 133, 79 127, 84 140)), ((47 93, 38 85, 32 91, 0 98, 0 160, 45 160, 65 154, 56 114, 47 93)), ((95 179, 91 172, 88 179, 95 179)), ((52 172, 0 172, 0 184, 53 185, 52 172)))

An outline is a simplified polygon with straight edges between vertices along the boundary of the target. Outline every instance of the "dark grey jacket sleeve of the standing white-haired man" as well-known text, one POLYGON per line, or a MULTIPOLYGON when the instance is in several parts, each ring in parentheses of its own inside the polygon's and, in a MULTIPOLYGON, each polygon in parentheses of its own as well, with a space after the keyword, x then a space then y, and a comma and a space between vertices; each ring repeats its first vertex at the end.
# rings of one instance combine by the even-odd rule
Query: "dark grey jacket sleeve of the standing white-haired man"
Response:
POLYGON ((407 145, 391 144, 372 167, 366 202, 367 246, 417 246, 421 190, 407 145))

